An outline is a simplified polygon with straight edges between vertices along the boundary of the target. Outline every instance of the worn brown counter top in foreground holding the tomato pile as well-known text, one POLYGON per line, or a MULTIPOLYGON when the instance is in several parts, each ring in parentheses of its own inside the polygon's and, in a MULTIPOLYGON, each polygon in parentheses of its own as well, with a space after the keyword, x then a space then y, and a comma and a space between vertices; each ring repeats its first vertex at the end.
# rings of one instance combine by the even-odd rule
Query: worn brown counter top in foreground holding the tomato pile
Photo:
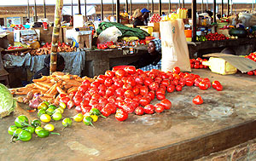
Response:
MULTIPOLYGON (((184 87, 166 95, 172 101, 169 111, 129 114, 125 122, 111 115, 100 118, 96 128, 73 123, 61 130, 61 121, 51 122, 60 136, 33 135, 28 142, 9 143, 7 129, 15 117, 3 118, 0 160, 193 160, 256 138, 256 76, 221 76, 207 69, 193 73, 220 81, 224 90, 184 87), (192 104, 195 95, 202 96, 202 105, 192 104)), ((66 110, 64 117, 74 114, 66 110)))

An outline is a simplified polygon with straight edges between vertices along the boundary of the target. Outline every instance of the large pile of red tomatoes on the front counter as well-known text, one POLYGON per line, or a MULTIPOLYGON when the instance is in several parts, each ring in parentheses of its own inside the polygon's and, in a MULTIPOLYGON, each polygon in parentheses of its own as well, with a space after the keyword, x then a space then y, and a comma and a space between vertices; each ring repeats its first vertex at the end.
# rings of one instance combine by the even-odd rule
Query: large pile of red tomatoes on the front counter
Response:
POLYGON ((174 67, 173 72, 160 72, 155 69, 143 72, 134 66, 126 66, 124 69, 107 71, 92 83, 84 80, 77 92, 66 97, 74 102, 77 112, 84 114, 94 107, 105 117, 115 114, 116 119, 124 121, 132 112, 143 115, 170 109, 172 102, 166 99, 166 92, 181 91, 184 86, 193 85, 204 90, 211 86, 222 90, 222 85, 216 82, 218 81, 211 85, 208 78, 180 72, 178 67, 174 67), (160 103, 150 104, 154 98, 160 103))

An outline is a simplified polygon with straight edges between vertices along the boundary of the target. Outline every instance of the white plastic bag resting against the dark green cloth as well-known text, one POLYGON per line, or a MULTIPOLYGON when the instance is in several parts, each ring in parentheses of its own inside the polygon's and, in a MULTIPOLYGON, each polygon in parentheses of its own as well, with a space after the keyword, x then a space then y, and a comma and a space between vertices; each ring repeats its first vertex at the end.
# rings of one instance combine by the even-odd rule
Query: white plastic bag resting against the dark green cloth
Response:
POLYGON ((116 26, 108 27, 99 35, 98 43, 117 42, 120 36, 122 36, 122 32, 116 26))

